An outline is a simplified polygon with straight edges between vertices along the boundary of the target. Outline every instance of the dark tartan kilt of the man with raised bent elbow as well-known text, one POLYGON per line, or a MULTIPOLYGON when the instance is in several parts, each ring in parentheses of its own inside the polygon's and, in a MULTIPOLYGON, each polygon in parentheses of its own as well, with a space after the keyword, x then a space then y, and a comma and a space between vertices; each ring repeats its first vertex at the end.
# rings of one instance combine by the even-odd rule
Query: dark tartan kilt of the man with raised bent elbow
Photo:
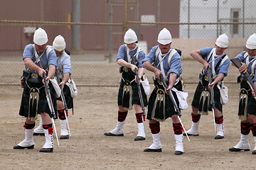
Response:
MULTIPOLYGON (((207 83, 208 84, 208 83, 207 83)), ((195 94, 193 96, 193 101, 191 103, 191 106, 198 108, 199 107, 199 101, 201 97, 201 93, 205 89, 205 87, 201 84, 201 81, 199 81, 198 86, 196 87, 195 94)), ((210 91, 210 89, 209 89, 210 91)), ((214 91, 214 103, 215 108, 217 108, 221 113, 223 112, 223 106, 220 104, 220 90, 218 89, 217 85, 213 87, 214 91)), ((209 106, 208 111, 212 111, 211 105, 209 106)))

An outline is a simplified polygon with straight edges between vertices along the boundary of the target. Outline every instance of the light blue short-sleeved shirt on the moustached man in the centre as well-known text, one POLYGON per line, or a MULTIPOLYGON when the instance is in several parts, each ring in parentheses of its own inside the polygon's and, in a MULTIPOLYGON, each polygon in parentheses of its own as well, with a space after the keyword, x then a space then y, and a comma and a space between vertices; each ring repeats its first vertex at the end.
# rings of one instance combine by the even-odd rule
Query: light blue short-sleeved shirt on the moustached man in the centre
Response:
MULTIPOLYGON (((158 65, 157 69, 161 69, 160 68, 160 64, 159 64, 159 57, 156 57, 156 55, 158 56, 159 54, 156 54, 156 50, 159 47, 159 45, 156 45, 154 47, 151 48, 150 52, 148 55, 146 55, 146 58, 142 61, 142 62, 150 62, 153 63, 155 67, 158 65)), ((166 55, 166 57, 164 57, 163 62, 163 66, 164 66, 164 74, 170 74, 170 73, 175 73, 177 76, 179 76, 182 73, 182 64, 181 64, 181 56, 178 55, 178 52, 174 53, 174 55, 171 57, 171 62, 170 64, 168 63, 168 59, 169 59, 169 55, 166 55)))

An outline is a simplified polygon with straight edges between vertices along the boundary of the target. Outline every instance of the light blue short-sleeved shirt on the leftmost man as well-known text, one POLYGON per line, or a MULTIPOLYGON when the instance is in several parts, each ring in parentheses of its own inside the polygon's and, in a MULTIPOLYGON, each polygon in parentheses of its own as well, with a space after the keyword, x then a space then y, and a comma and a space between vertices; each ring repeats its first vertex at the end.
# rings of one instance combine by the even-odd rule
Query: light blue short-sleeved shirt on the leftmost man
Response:
MULTIPOLYGON (((51 48, 50 45, 47 45, 46 46, 46 49, 47 48, 51 48)), ((38 56, 41 56, 42 53, 38 53, 38 56)), ((33 45, 32 44, 29 44, 29 45, 26 45, 24 51, 23 51, 23 60, 26 58, 26 57, 29 57, 31 58, 31 60, 33 62, 36 62, 36 56, 35 56, 35 53, 34 53, 34 50, 33 50, 33 45)), ((42 57, 40 57, 40 61, 41 61, 41 64, 42 64, 42 67, 43 69, 46 69, 48 68, 50 65, 55 65, 57 66, 57 60, 56 60, 56 54, 54 52, 54 50, 50 50, 49 54, 48 54, 48 57, 46 55, 46 50, 43 52, 43 55, 42 57)), ((38 64, 38 63, 35 63, 35 64, 38 64)), ((31 72, 36 72, 34 70, 31 70, 31 72)))

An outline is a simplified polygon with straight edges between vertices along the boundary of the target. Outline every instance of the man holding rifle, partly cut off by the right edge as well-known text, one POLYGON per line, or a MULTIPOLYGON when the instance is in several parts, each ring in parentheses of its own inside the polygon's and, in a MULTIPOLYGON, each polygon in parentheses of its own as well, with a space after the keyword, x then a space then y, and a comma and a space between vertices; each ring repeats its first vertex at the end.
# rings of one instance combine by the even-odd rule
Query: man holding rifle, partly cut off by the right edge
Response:
POLYGON ((247 51, 241 52, 235 58, 238 58, 242 63, 239 72, 241 73, 238 77, 238 83, 240 83, 240 101, 238 115, 241 120, 240 123, 240 142, 234 147, 231 147, 230 152, 249 151, 250 143, 248 137, 250 131, 254 138, 255 147, 252 154, 256 154, 256 100, 255 91, 252 90, 250 84, 245 79, 245 75, 242 73, 247 72, 252 77, 252 82, 256 87, 256 33, 250 35, 245 47, 247 51))

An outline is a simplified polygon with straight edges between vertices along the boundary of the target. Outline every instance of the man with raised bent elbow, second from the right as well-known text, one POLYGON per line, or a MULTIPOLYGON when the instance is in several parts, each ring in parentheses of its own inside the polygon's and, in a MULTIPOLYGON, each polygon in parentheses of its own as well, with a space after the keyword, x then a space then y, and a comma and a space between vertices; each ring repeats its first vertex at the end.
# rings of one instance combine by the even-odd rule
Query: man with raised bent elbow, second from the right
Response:
POLYGON ((228 75, 230 59, 228 58, 228 55, 225 54, 225 50, 228 48, 228 42, 228 36, 224 33, 217 38, 215 47, 206 47, 200 50, 193 50, 190 54, 195 60, 203 64, 203 70, 200 75, 200 81, 193 96, 193 101, 191 103, 192 125, 191 129, 187 131, 188 135, 198 136, 198 125, 201 115, 207 115, 208 111, 212 111, 212 107, 210 107, 210 86, 213 86, 215 104, 214 120, 217 132, 215 135, 215 140, 223 139, 224 137, 224 103, 220 102, 219 87, 223 86, 223 79, 228 75), (208 81, 208 72, 212 74, 213 81, 211 84, 209 84, 208 81))

